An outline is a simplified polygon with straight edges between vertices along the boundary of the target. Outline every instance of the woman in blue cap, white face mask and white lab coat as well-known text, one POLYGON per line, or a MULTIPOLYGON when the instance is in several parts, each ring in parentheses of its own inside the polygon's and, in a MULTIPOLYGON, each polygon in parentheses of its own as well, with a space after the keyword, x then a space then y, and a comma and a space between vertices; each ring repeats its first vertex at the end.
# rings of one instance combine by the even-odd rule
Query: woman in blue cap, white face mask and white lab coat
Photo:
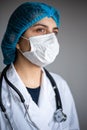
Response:
POLYGON ((59 53, 58 11, 26 2, 11 15, 1 48, 0 130, 79 130, 67 83, 44 67, 59 53))

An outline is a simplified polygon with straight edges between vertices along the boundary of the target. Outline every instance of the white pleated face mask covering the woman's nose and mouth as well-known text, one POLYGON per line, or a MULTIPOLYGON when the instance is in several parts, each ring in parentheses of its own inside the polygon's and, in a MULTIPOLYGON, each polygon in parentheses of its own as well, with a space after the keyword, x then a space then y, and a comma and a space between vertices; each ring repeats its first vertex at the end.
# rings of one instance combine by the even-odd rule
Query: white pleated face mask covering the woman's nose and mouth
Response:
MULTIPOLYGON (((22 38, 27 39, 22 36, 22 38)), ((31 51, 23 55, 33 64, 44 67, 52 63, 59 53, 59 43, 54 33, 30 37, 31 51)))

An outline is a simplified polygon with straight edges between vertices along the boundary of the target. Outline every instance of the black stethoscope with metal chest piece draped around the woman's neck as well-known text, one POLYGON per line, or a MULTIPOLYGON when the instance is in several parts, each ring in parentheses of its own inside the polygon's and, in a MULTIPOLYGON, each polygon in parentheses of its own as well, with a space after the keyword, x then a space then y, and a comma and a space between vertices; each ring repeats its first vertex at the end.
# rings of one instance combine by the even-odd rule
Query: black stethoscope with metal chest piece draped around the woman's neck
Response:
MULTIPOLYGON (((7 84, 18 94, 18 96, 20 97, 20 100, 21 102, 23 103, 23 106, 26 110, 26 113, 28 114, 28 117, 32 123, 33 126, 35 126, 37 128, 37 126, 35 125, 35 123, 31 120, 30 116, 29 116, 29 113, 27 111, 27 106, 25 104, 25 99, 22 95, 22 93, 8 80, 7 76, 6 76, 6 72, 8 70, 10 65, 6 66, 4 68, 4 70, 2 71, 1 73, 1 78, 0 78, 0 108, 2 110, 2 112, 4 113, 5 115, 5 118, 8 120, 12 130, 13 130, 13 127, 12 127, 12 124, 11 124, 11 121, 9 119, 9 116, 8 114, 6 113, 6 108, 5 106, 3 105, 3 102, 2 102, 2 80, 3 80, 3 77, 5 79, 5 81, 7 82, 7 84)), ((63 122, 63 121, 66 121, 67 119, 67 116, 66 114, 63 113, 63 108, 62 108, 62 103, 61 103, 61 98, 60 98, 60 94, 59 94, 59 91, 58 91, 58 87, 56 85, 56 82, 54 81, 53 77, 51 76, 51 74, 44 68, 45 70, 45 73, 47 75, 47 77, 49 78, 50 82, 51 82, 51 85, 53 87, 53 90, 55 92, 55 101, 56 101, 56 111, 54 112, 54 120, 55 122, 63 122)))

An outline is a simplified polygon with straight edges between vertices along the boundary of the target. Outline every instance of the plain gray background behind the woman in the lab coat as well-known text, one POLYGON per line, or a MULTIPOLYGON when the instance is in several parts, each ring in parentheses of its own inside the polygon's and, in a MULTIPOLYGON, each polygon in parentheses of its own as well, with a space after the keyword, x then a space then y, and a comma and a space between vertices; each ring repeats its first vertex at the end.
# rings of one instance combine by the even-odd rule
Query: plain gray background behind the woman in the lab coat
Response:
MULTIPOLYGON (((11 13, 25 1, 0 0, 0 45, 11 13)), ((60 10, 60 54, 47 68, 67 81, 76 103, 81 130, 87 130, 87 4, 84 0, 38 1, 49 3, 60 10)), ((0 71, 3 67, 0 50, 0 71)))

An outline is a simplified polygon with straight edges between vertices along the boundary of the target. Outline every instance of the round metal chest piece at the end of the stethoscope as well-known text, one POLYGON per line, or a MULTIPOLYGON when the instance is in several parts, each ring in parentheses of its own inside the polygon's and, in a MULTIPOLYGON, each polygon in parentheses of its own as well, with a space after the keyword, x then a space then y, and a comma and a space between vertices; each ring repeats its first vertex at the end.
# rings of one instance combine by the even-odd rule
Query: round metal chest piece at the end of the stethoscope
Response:
POLYGON ((58 123, 66 121, 67 116, 62 112, 62 109, 57 109, 54 112, 54 120, 58 123))

